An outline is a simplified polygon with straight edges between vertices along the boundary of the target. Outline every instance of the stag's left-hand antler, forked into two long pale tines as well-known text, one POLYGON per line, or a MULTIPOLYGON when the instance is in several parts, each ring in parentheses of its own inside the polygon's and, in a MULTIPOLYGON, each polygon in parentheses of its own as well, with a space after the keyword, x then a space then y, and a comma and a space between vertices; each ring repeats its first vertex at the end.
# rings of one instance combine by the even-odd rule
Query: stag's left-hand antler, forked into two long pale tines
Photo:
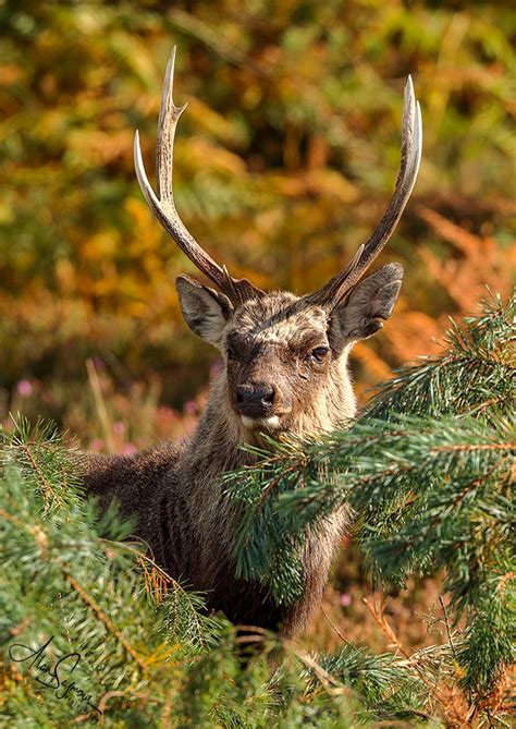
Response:
POLYGON ((248 299, 261 296, 263 292, 254 287, 247 279, 234 279, 228 272, 225 266, 219 266, 206 251, 204 251, 194 236, 188 232, 175 209, 174 195, 172 191, 172 167, 174 135, 177 120, 186 109, 186 104, 176 107, 172 99, 174 83, 175 46, 167 64, 161 96, 161 109, 158 120, 158 144, 156 155, 156 171, 158 178, 158 196, 152 190, 139 147, 139 134, 134 137, 134 166, 139 186, 147 201, 148 206, 158 218, 168 233, 174 239, 180 248, 225 293, 233 304, 239 304, 248 299))

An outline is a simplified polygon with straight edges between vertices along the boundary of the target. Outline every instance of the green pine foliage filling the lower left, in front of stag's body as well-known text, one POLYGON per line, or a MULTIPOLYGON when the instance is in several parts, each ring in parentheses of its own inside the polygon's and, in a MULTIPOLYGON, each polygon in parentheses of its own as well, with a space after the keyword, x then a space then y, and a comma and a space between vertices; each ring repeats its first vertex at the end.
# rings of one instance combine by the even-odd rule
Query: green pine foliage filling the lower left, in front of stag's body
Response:
POLYGON ((364 651, 349 647, 323 669, 260 633, 243 663, 235 629, 206 617, 199 596, 127 540, 131 522, 114 508, 99 519, 81 498, 81 461, 53 426, 21 418, 2 435, 0 726, 345 729, 385 695, 392 715, 411 712, 390 681, 413 672, 364 651), (336 676, 321 683, 332 666, 336 676))

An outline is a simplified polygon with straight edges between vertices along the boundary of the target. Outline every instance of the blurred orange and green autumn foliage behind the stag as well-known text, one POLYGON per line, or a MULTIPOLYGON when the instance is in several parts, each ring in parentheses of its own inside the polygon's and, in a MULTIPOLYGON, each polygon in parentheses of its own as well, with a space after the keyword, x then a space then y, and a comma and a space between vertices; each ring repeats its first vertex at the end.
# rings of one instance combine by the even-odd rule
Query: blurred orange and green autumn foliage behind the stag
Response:
MULTIPOLYGON (((392 368, 438 351, 447 317, 472 313, 486 284, 508 293, 508 3, 17 0, 0 3, 0 28, 5 424, 10 411, 44 415, 88 449, 127 453, 195 425, 217 353, 182 321, 174 279, 196 271, 147 209, 132 153, 139 129, 152 168, 174 44, 174 96, 188 102, 177 208, 233 276, 298 293, 333 275, 381 218, 413 74, 423 159, 378 260, 404 265, 398 304, 354 351, 363 402, 392 368)), ((370 585, 349 551, 333 584, 327 608, 359 636, 370 585)), ((438 594, 427 581, 394 600, 410 643, 427 630, 414 605, 438 594)), ((335 640, 322 618, 317 633, 335 640)))

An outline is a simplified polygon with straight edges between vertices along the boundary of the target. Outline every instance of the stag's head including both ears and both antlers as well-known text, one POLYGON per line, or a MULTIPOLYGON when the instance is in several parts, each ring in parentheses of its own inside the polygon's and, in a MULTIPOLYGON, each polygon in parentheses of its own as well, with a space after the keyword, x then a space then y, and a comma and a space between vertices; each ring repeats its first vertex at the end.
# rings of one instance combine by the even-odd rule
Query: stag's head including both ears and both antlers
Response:
POLYGON ((217 347, 225 363, 224 392, 234 420, 247 435, 257 430, 299 434, 334 427, 354 414, 347 355, 391 315, 403 277, 388 264, 360 280, 390 239, 408 202, 421 158, 421 114, 408 77, 403 104, 402 160, 396 186, 378 228, 352 260, 315 293, 265 292, 234 279, 194 240, 177 215, 172 192, 175 127, 185 106, 172 99, 175 48, 170 57, 158 122, 155 194, 145 172, 138 132, 136 175, 160 223, 217 287, 188 276, 176 280, 191 329, 217 347))

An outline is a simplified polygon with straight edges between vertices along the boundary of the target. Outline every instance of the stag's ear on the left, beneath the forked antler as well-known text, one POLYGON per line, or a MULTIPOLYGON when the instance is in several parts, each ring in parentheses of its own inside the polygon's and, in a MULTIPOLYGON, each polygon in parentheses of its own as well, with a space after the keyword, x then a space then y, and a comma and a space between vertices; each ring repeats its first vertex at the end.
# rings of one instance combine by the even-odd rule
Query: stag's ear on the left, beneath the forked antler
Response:
POLYGON ((175 287, 188 327, 210 344, 220 347, 222 331, 233 311, 228 296, 198 283, 189 276, 179 276, 175 287))

